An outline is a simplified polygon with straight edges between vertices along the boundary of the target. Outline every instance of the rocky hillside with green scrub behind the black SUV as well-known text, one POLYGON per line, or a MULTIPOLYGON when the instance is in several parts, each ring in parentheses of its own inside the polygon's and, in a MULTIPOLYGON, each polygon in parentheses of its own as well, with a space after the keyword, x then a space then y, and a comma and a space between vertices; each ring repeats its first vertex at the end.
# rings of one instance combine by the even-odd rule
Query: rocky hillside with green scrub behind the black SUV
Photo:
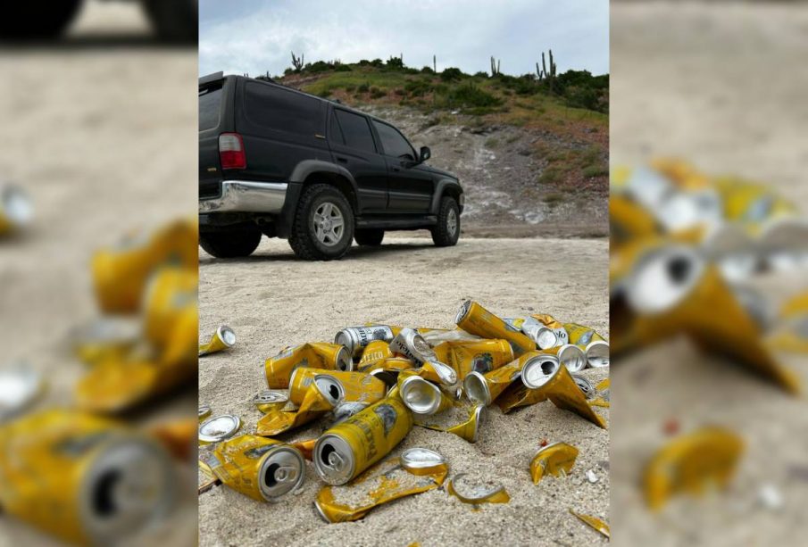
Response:
MULTIPOLYGON (((390 121, 416 147, 429 146, 429 163, 456 173, 467 192, 467 235, 608 234, 608 114, 571 105, 588 97, 605 110, 607 95, 595 100, 586 85, 527 76, 447 69, 456 72, 446 78, 446 70, 363 63, 288 70, 276 80, 390 121)), ((580 74, 570 81, 595 80, 580 74)))

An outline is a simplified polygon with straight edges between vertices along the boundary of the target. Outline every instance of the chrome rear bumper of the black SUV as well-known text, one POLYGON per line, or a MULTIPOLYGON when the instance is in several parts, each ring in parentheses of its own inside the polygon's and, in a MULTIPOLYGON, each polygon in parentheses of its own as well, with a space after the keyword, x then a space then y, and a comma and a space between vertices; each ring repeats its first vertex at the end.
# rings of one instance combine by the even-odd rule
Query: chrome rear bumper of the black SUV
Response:
POLYGON ((199 212, 262 212, 283 211, 288 185, 285 182, 254 182, 252 180, 223 180, 219 197, 199 200, 199 212))

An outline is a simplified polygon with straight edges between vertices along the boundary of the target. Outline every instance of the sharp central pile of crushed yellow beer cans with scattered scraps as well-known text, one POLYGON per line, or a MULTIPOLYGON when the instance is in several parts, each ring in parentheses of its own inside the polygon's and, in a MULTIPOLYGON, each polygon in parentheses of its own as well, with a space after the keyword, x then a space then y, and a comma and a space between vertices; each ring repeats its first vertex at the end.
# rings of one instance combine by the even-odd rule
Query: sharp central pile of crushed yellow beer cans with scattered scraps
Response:
MULTIPOLYGON (((455 323, 454 329, 349 327, 333 344, 289 347, 268 359, 269 390, 254 398, 263 413, 255 435, 234 436, 241 427, 237 416, 210 417, 211 408, 200 407, 206 476, 200 493, 221 482, 273 501, 300 488, 305 460, 311 460, 325 483, 314 501, 318 513, 327 522, 356 520, 381 503, 444 484, 448 462, 437 452, 411 448, 388 457, 413 426, 475 443, 487 406, 506 413, 548 401, 606 427, 593 407, 609 406, 608 379, 593 385, 576 374, 609 366, 609 343, 595 330, 544 314, 501 319, 471 301, 462 304, 455 323), (272 438, 325 417, 331 426, 318 438, 272 438), (350 495, 345 487, 335 489, 341 485, 350 495)), ((233 342, 232 330, 220 327, 200 353, 233 342)), ((547 444, 530 465, 531 477, 537 483, 569 472, 577 454, 569 444, 547 444)), ((473 504, 510 499, 501 487, 476 485, 462 473, 446 491, 473 504)), ((594 517, 576 515, 608 530, 594 517)))

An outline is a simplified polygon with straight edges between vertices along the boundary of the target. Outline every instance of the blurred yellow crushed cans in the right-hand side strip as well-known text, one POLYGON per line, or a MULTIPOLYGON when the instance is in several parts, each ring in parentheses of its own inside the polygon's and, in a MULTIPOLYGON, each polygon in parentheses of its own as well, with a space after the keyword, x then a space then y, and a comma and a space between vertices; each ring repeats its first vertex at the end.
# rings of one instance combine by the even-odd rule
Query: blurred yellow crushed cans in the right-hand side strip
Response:
MULTIPOLYGON (((771 186, 671 159, 615 168, 611 186, 612 353, 685 335, 700 350, 801 393, 782 354, 808 354, 808 294, 778 310, 750 283, 808 267, 808 220, 796 204, 771 186)), ((744 446, 736 432, 713 425, 664 443, 643 470, 648 507, 728 485, 744 446)))

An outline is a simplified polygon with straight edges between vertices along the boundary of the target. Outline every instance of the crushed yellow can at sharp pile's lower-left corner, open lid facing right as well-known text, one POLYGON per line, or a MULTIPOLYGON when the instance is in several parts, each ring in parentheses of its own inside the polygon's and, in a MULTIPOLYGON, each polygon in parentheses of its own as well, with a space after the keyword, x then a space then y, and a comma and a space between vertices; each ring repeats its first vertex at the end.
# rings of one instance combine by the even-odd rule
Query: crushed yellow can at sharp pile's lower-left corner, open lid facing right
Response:
POLYGON ((305 460, 294 446, 258 435, 220 443, 204 462, 224 485, 258 501, 277 501, 305 480, 305 460))

